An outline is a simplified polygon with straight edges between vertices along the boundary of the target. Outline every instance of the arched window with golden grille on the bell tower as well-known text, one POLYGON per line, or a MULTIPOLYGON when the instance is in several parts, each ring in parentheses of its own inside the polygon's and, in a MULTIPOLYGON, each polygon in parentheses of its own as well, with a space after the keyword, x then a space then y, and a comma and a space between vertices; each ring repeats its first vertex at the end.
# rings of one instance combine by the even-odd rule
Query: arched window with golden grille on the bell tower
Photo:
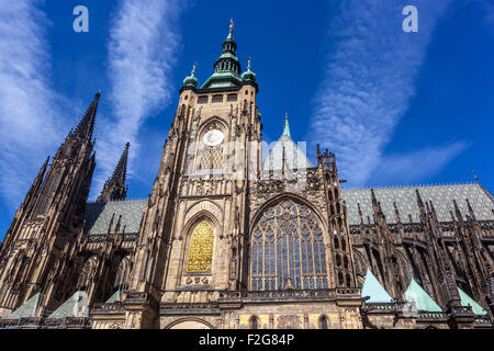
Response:
POLYGON ((188 272, 211 272, 214 230, 207 220, 200 222, 190 237, 188 272))

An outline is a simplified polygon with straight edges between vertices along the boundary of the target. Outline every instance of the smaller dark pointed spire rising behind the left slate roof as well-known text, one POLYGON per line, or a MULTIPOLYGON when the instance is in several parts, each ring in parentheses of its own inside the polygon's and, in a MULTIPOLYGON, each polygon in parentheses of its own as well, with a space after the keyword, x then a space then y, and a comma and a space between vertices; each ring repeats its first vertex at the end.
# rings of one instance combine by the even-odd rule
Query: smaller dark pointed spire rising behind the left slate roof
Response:
POLYGON ((127 174, 128 148, 131 144, 125 145, 125 149, 120 157, 119 163, 113 171, 112 177, 104 183, 103 190, 97 202, 123 201, 127 195, 128 185, 125 184, 127 174))

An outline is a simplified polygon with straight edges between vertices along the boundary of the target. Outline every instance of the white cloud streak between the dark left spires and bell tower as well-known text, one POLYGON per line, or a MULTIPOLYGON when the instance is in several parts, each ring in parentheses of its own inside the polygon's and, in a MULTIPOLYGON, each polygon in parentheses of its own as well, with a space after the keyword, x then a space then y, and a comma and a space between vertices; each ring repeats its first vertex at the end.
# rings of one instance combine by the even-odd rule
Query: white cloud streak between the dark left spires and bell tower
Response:
POLYGON ((175 0, 117 3, 108 44, 114 118, 100 122, 93 192, 102 188, 127 141, 132 162, 145 143, 138 139, 139 127, 171 101, 171 70, 180 42, 177 22, 183 5, 175 0))

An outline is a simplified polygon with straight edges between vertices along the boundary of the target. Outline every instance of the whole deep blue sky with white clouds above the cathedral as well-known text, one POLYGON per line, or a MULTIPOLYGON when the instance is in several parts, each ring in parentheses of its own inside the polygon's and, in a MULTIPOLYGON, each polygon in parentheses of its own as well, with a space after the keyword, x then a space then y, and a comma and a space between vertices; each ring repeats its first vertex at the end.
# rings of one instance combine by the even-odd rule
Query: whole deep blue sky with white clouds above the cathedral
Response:
POLYGON ((336 152, 348 186, 472 181, 494 189, 494 4, 487 0, 18 0, 0 7, 0 237, 94 93, 101 190, 132 143, 128 199, 151 190, 178 102, 235 20, 259 83, 263 137, 336 152), (72 10, 89 9, 89 33, 72 10), (418 9, 404 33, 402 9, 418 9))

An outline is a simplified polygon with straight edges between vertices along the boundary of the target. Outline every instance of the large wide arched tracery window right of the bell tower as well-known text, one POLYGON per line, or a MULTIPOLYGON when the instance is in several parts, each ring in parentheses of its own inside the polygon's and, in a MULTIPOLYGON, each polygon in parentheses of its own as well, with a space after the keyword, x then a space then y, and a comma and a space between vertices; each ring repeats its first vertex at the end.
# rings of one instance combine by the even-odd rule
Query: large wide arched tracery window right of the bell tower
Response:
POLYGON ((308 206, 283 200, 266 210, 251 236, 250 288, 327 288, 323 230, 308 206))

